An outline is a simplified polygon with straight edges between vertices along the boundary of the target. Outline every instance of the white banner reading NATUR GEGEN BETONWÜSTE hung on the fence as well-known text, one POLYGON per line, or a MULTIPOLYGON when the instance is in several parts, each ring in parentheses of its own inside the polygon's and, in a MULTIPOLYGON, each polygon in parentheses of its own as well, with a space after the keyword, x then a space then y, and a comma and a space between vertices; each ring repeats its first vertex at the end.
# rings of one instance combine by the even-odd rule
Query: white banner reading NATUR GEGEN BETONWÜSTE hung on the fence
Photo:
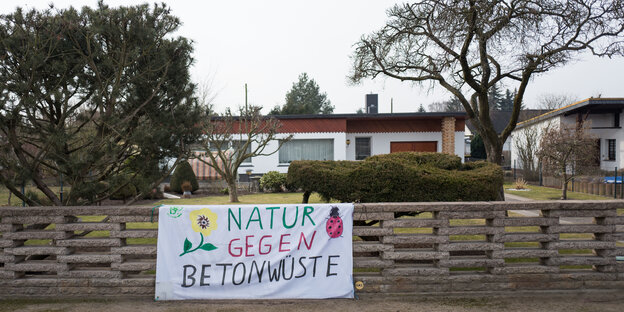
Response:
POLYGON ((353 298, 353 204, 159 209, 156 300, 353 298))

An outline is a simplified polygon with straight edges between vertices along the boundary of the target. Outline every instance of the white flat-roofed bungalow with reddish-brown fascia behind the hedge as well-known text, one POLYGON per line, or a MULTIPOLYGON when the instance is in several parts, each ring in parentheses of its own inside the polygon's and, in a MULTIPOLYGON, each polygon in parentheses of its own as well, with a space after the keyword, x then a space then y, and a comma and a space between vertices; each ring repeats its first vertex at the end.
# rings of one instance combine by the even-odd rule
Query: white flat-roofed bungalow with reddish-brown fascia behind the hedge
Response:
MULTIPOLYGON (((464 156, 465 113, 397 113, 274 116, 282 137, 291 141, 270 156, 241 165, 241 181, 269 171, 287 172, 294 160, 362 160, 402 151, 439 152, 464 156)), ((278 142, 270 142, 274 150, 278 142)), ((198 179, 215 177, 213 169, 191 160, 198 179)))

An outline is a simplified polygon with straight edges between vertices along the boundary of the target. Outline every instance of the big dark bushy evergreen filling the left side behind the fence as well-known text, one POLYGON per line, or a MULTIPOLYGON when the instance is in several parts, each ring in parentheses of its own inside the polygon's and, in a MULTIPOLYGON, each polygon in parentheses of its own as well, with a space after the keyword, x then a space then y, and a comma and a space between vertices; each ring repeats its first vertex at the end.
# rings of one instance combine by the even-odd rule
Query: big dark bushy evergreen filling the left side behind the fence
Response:
POLYGON ((18 174, 63 205, 162 181, 201 134, 193 48, 173 36, 179 26, 165 5, 0 16, 0 182, 36 205, 18 174), (63 202, 45 179, 61 174, 63 202))

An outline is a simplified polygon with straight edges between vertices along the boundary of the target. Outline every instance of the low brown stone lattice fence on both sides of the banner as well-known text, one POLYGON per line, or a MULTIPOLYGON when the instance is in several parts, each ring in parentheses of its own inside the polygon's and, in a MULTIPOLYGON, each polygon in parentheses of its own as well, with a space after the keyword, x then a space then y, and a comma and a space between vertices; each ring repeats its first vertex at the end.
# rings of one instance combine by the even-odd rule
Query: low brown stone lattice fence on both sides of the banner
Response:
MULTIPOLYGON (((354 220, 375 224, 354 227, 354 280, 374 293, 622 290, 623 208, 624 201, 356 204, 354 220), (406 212, 419 214, 395 217, 406 212)), ((1 207, 0 297, 153 295, 157 214, 1 207)))

